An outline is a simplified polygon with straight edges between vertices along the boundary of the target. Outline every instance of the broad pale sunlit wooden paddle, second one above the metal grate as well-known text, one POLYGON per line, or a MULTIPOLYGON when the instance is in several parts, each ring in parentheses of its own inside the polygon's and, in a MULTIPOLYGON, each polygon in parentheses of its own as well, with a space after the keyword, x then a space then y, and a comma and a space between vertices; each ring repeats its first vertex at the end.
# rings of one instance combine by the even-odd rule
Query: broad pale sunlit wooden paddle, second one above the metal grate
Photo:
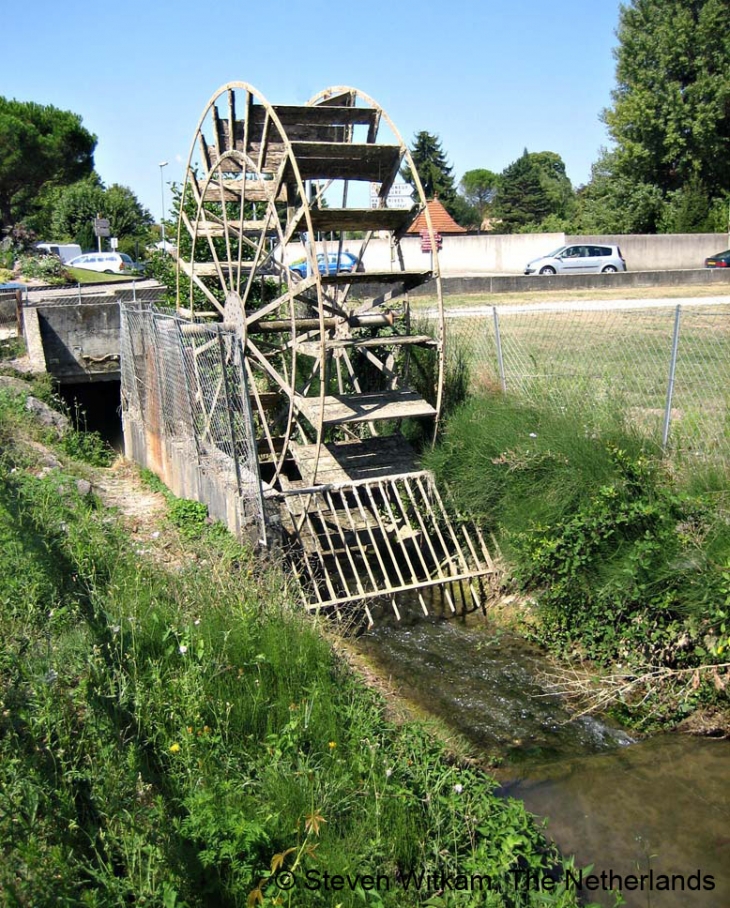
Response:
POLYGON ((297 394, 294 406, 312 423, 341 426, 384 419, 406 419, 436 416, 436 410, 415 391, 384 391, 369 394, 331 395, 324 399, 324 412, 318 397, 297 394))

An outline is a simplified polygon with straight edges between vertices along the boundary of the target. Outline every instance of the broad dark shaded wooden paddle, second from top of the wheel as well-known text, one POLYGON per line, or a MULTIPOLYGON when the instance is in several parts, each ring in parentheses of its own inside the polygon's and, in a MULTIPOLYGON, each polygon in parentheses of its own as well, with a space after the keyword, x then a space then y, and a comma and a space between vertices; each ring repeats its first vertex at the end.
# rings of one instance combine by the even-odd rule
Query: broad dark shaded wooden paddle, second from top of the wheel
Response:
MULTIPOLYGON (((387 182, 398 169, 398 145, 368 143, 292 142, 292 151, 303 180, 365 180, 387 182)), ((287 167, 285 182, 293 178, 287 167)))

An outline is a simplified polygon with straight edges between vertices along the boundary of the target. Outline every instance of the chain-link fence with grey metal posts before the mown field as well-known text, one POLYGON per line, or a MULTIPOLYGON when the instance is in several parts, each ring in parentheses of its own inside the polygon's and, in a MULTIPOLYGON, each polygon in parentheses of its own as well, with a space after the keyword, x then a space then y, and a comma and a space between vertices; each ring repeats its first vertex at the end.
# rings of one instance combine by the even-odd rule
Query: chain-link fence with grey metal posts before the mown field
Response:
POLYGON ((730 306, 565 303, 447 313, 474 390, 620 407, 677 458, 730 460, 730 306))

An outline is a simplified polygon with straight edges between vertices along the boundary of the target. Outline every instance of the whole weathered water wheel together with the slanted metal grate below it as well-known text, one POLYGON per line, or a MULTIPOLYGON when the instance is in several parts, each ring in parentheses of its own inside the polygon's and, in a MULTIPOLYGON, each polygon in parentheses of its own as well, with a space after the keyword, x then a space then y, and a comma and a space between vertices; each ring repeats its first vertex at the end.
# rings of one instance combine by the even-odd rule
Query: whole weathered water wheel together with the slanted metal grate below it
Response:
POLYGON ((494 573, 400 431, 418 420, 435 434, 443 397, 438 257, 409 270, 400 243, 420 211, 435 250, 408 148, 357 89, 289 106, 231 82, 206 105, 181 197, 178 307, 236 328, 260 474, 308 608, 359 601, 370 616, 386 599, 398 613, 415 591, 427 611, 424 591, 441 588, 455 610, 455 586, 478 603, 494 573), (389 208, 404 166, 415 205, 389 208), (376 236, 388 253, 365 268, 376 236), (408 294, 429 280, 435 330, 419 331, 408 294))

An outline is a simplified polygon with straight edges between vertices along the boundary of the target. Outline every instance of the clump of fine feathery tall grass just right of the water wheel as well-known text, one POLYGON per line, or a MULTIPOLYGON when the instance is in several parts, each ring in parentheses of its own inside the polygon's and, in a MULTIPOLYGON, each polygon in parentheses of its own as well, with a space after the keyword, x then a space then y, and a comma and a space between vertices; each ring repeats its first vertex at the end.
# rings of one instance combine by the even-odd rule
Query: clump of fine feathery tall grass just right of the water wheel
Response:
POLYGON ((492 393, 453 415, 425 463, 448 484, 459 509, 513 553, 515 534, 559 523, 616 478, 612 448, 658 453, 618 408, 587 413, 548 394, 525 401, 492 393))

